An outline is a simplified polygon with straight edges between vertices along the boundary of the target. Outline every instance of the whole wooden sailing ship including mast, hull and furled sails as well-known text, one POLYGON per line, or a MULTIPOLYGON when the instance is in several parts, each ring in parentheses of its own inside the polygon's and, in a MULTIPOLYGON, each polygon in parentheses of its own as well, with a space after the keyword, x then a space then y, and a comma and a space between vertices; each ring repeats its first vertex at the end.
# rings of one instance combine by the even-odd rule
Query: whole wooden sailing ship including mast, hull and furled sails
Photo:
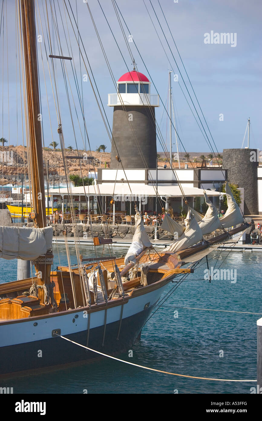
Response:
MULTIPOLYGON (((189 208, 185 228, 165 215, 162 228, 177 236, 162 252, 153 248, 136 209, 135 234, 124 258, 112 253, 85 258, 77 250, 77 265, 73 266, 66 245, 69 266, 52 271, 53 228, 46 221, 42 134, 36 118, 39 89, 34 1, 20 0, 19 7, 34 222, 32 227, 0 228, 0 257, 30 260, 35 276, 0 284, 0 376, 97 358, 86 348, 109 355, 130 349, 167 285, 180 274, 193 273, 186 264, 236 240, 247 227, 227 185, 228 210, 220 219, 207 196, 206 215, 201 218, 189 208)), ((58 133, 62 138, 61 125, 58 133)), ((70 207, 73 209, 73 203, 70 207)), ((77 237, 76 225, 74 234, 77 237)), ((111 239, 94 239, 95 247, 103 243, 110 251, 111 239)))

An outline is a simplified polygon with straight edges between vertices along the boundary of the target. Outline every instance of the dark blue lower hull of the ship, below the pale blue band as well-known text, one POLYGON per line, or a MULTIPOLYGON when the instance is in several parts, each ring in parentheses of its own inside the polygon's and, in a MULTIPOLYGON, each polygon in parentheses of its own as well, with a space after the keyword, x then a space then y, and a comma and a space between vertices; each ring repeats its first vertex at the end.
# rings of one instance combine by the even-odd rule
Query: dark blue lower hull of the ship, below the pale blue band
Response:
MULTIPOLYGON (((134 344, 141 329, 151 313, 153 306, 122 320, 119 338, 119 321, 106 325, 104 346, 104 327, 90 329, 88 346, 105 354, 124 352, 134 344)), ((66 335, 82 345, 87 345, 87 330, 66 335)), ((87 351, 63 338, 54 337, 41 341, 27 342, 0 348, 0 376, 9 373, 42 370, 67 363, 77 363, 98 358, 99 354, 87 351), (40 352, 42 351, 42 353, 40 352), (38 355, 41 355, 39 357, 38 355), (8 358, 7 358, 8 356, 8 358)))

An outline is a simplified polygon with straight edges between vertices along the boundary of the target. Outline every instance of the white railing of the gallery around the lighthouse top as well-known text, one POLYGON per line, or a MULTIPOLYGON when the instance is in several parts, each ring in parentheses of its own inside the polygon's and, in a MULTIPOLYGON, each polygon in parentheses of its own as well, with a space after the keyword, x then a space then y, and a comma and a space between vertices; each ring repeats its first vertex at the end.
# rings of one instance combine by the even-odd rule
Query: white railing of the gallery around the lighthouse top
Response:
POLYGON ((151 105, 159 107, 159 95, 157 93, 109 93, 108 104, 114 105, 151 105))

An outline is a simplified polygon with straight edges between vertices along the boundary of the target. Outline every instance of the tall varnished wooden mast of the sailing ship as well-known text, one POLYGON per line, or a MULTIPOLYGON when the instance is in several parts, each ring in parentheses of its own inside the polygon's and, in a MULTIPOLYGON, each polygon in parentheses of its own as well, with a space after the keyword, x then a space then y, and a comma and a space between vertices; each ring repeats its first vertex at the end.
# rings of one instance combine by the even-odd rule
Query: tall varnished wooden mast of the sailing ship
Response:
MULTIPOLYGON (((37 72, 36 30, 34 20, 34 0, 20 0, 23 29, 26 96, 29 123, 30 174, 32 181, 32 202, 34 225, 47 226, 45 211, 45 184, 42 156, 42 133, 37 72)), ((50 284, 50 270, 53 255, 38 258, 35 269, 39 287, 50 284)), ((38 289, 38 297, 44 303, 44 289, 38 289)))

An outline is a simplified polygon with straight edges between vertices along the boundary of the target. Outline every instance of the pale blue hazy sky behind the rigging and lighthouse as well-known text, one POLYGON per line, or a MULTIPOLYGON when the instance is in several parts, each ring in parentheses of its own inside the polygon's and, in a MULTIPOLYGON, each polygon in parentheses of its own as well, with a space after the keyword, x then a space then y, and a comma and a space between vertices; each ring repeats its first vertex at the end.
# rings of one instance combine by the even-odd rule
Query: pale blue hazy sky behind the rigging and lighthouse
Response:
MULTIPOLYGON (((161 32, 159 24, 156 21, 153 9, 149 0, 144 0, 148 11, 156 24, 157 31, 164 44, 171 66, 175 73, 179 74, 175 62, 172 58, 170 50, 167 46, 164 36, 161 32)), ((251 118, 251 134, 250 146, 260 147, 260 138, 262 134, 261 125, 261 74, 262 74, 262 60, 261 60, 261 16, 262 16, 262 2, 259 0, 234 1, 234 0, 178 0, 174 3, 173 0, 159 0, 164 10, 165 16, 172 31, 172 35, 179 49, 180 55, 183 59, 185 68, 191 79, 191 83, 196 92, 196 96, 203 110, 206 121, 209 125, 210 131, 214 138, 215 144, 219 152, 223 148, 238 148, 241 147, 243 135, 246 129, 248 117, 251 118), (230 44, 205 44, 204 34, 211 31, 222 33, 236 33, 236 47, 231 47, 230 44), (220 114, 223 114, 223 121, 220 121, 220 114)), ((42 24, 45 26, 42 2, 38 0, 40 16, 42 24)), ((187 83, 188 90, 190 90, 188 80, 185 77, 182 64, 178 58, 175 45, 171 39, 167 26, 164 22, 164 17, 159 8, 157 0, 151 0, 156 14, 161 22, 164 33, 167 37, 172 53, 177 61, 179 69, 187 83)), ((106 63, 95 34, 95 30, 90 19, 87 5, 83 0, 70 0, 72 9, 75 13, 76 3, 78 11, 79 32, 85 45, 86 53, 90 61, 90 65, 95 75, 95 80, 98 85, 98 90, 106 109, 106 114, 109 123, 112 126, 113 108, 107 107, 107 94, 114 93, 114 84, 109 75, 106 63)), ((104 49, 109 58, 112 72, 115 80, 127 72, 127 67, 119 53, 115 41, 109 31, 109 27, 103 17, 101 9, 97 0, 90 1, 90 9, 93 13, 95 23, 98 28, 99 35, 103 42, 104 49)), ((106 14, 107 19, 111 25, 111 29, 116 36, 119 47, 123 53, 124 59, 127 61, 129 69, 132 69, 131 59, 128 54, 119 24, 116 19, 113 5, 109 0, 101 0, 101 6, 106 14)), ((143 60, 148 67, 151 78, 155 83, 157 90, 163 102, 167 99, 168 86, 168 59, 161 47, 159 39, 151 23, 148 12, 146 11, 143 0, 117 0, 116 3, 121 10, 127 26, 130 29, 130 34, 138 46, 138 49, 143 57, 143 60)), ((70 28, 70 22, 67 16, 67 22, 64 14, 63 2, 60 0, 59 5, 63 19, 59 17, 59 9, 57 1, 55 0, 55 9, 58 17, 59 36, 64 55, 68 56, 66 41, 71 42, 73 49, 73 58, 76 66, 77 77, 80 85, 80 66, 79 66, 79 50, 74 34, 70 28), (62 23, 69 27, 69 34, 64 36, 62 23)), ((68 6, 68 0, 66 0, 68 6)), ((36 2, 37 7, 37 2, 36 2)), ((68 6, 69 7, 69 6, 68 6)), ((38 12, 37 12, 38 15, 38 12)), ((0 137, 3 136, 10 141, 10 144, 22 144, 22 125, 21 125, 21 107, 16 106, 16 26, 15 26, 15 1, 8 0, 7 2, 7 22, 8 22, 8 73, 7 73, 7 53, 6 53, 6 35, 4 36, 4 66, 1 68, 1 81, 4 80, 3 91, 0 90, 1 118, 0 118, 0 137), (7 82, 9 77, 9 83, 7 82), (9 124, 8 124, 8 90, 9 90, 9 124), (18 113, 17 113, 18 110, 18 113), (18 115, 18 130, 16 125, 16 114, 18 115), (3 116, 3 124, 2 124, 3 116), (2 127, 3 126, 3 127, 2 127)), ((39 18, 39 15, 38 15, 39 18)), ((51 22, 51 14, 49 16, 51 22)), ((42 33, 40 28, 40 18, 38 21, 39 29, 37 34, 43 36, 47 43, 47 35, 45 29, 42 33)), ((52 24, 50 24, 52 33, 52 24)), ((6 31, 6 27, 4 28, 6 31)), ((66 29, 67 31, 67 29, 66 29)), ((128 38, 129 32, 125 30, 125 35, 128 38)), ((52 37, 52 35, 51 35, 52 37)), ((135 57, 138 70, 143 72, 146 76, 148 73, 136 51, 134 43, 129 43, 132 53, 135 57)), ((42 49, 44 43, 41 43, 42 49)), ((56 42, 53 43, 53 52, 59 53, 56 42)), ((41 54, 40 43, 37 43, 39 57, 41 54)), ((42 50, 44 51, 44 50, 42 50)), ((49 52, 48 52, 49 53, 49 52)), ((0 35, 0 55, 3 56, 3 32, 0 35)), ((71 55, 71 53, 70 53, 71 55)), ((47 80, 48 101, 50 107, 51 126, 53 130, 53 139, 59 141, 57 134, 57 119, 56 110, 54 107, 53 95, 49 82, 48 68, 45 61, 45 78, 47 80)), ((50 62, 50 59, 49 59, 50 62)), ((71 63, 66 62, 67 71, 71 89, 73 91, 74 100, 76 104, 77 114, 79 117, 80 128, 83 130, 83 122, 81 120, 81 111, 78 105, 78 98, 74 85, 74 77, 71 71, 71 63)), ((81 63, 82 76, 85 74, 83 62, 81 63)), ((178 77, 179 82, 186 92, 182 82, 182 78, 178 77)), ((70 91, 68 83, 68 89, 70 91)), ((79 129, 77 115, 74 110, 74 103, 70 98, 72 108, 74 131, 71 124, 71 117, 69 113, 69 106, 66 97, 64 79, 61 72, 60 63, 57 63, 56 82, 59 89, 59 106, 61 111, 61 121, 64 131, 65 144, 71 144, 75 147, 74 131, 77 141, 77 146, 82 149, 83 141, 79 129)), ((2 82, 1 82, 2 85, 2 82)), ((89 82, 83 82, 83 97, 85 120, 87 131, 90 139, 91 149, 95 149, 100 144, 106 144, 106 151, 111 150, 109 136, 101 119, 92 89, 89 82)), ((42 62, 40 59, 40 87, 42 98, 42 118, 44 126, 45 145, 48 145, 52 140, 49 112, 47 105, 47 97, 45 93, 45 84, 42 70, 42 62)), ((20 89, 20 85, 19 85, 20 89)), ((199 130, 196 121, 185 101, 183 93, 178 83, 172 83, 173 97, 175 100, 176 117, 177 117, 177 131, 183 141, 185 149, 191 152, 208 152, 209 147, 199 130)), ((151 93, 155 93, 155 88, 151 85, 151 93)), ((190 90, 191 92, 191 90, 190 90)), ((70 94, 71 95, 71 94, 70 94)), ((193 98, 193 96, 192 96, 193 98)), ((194 101, 196 104, 196 100, 194 101)), ((163 106, 156 109, 156 119, 160 124, 163 114, 163 106)), ((202 121, 203 118, 202 118, 202 121)), ((166 132, 167 117, 163 115, 162 123, 160 125, 164 139, 168 136, 166 132)), ((167 141, 168 142, 168 141, 167 141)), ((158 143, 158 151, 161 147, 158 143)))

